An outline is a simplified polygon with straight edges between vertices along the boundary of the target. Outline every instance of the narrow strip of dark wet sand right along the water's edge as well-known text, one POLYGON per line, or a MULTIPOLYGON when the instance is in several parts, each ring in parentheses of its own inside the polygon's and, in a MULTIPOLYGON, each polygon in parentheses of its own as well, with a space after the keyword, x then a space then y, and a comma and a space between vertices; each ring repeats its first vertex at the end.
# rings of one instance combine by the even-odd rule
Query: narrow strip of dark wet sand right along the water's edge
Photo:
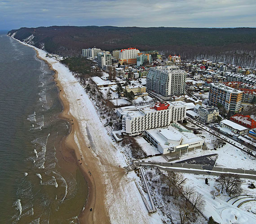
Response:
MULTIPOLYGON (((84 208, 79 213, 79 216, 78 216, 79 221, 81 223, 86 223, 86 224, 94 223, 94 221, 93 221, 93 213, 94 212, 91 212, 89 210, 90 210, 90 208, 95 207, 96 186, 95 186, 95 182, 92 181, 89 176, 89 169, 87 167, 84 167, 83 164, 82 164, 82 166, 80 165, 79 158, 81 157, 81 154, 79 153, 79 148, 75 142, 75 136, 74 136, 75 132, 80 132, 78 122, 76 121, 75 117, 69 113, 69 107, 70 107, 69 102, 65 98, 65 96, 64 96, 65 91, 64 91, 62 85, 60 84, 60 81, 58 80, 58 71, 56 69, 53 69, 53 66, 51 63, 49 63, 47 60, 40 57, 39 52, 35 48, 34 48, 34 50, 36 52, 36 57, 39 58, 40 60, 43 60, 49 66, 49 69, 54 72, 53 81, 55 82, 55 84, 58 88, 58 98, 60 99, 60 102, 62 103, 62 107, 63 107, 63 110, 58 115, 58 117, 60 117, 63 120, 66 120, 70 124, 69 134, 63 138, 63 141, 61 144, 64 144, 66 149, 68 151, 72 152, 72 155, 74 156, 74 158, 76 160, 76 164, 77 164, 78 168, 80 169, 80 171, 82 172, 84 179, 88 185, 88 195, 87 195, 87 198, 86 198, 86 201, 84 204, 84 208)), ((93 209, 93 211, 94 211, 94 209, 93 209)))

